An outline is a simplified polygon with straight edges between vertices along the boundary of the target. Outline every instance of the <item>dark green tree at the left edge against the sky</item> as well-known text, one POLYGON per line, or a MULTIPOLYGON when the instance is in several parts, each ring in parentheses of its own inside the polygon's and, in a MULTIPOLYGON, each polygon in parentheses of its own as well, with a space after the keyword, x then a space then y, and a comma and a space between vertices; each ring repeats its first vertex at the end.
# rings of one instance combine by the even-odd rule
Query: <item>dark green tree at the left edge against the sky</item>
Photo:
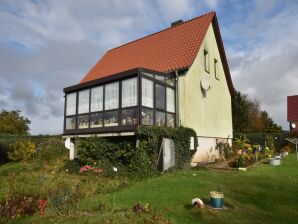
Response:
POLYGON ((0 134, 29 135, 31 121, 20 113, 19 110, 0 112, 0 134))

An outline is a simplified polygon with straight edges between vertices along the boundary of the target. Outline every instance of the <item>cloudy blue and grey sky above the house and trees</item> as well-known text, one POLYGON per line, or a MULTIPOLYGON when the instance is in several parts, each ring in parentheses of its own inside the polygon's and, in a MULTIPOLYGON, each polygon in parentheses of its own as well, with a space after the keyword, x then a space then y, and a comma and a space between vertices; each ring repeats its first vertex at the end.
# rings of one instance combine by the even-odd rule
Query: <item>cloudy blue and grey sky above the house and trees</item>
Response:
POLYGON ((103 54, 179 19, 215 11, 235 88, 288 129, 298 94, 298 1, 0 0, 0 110, 20 110, 31 134, 60 134, 63 88, 103 54))

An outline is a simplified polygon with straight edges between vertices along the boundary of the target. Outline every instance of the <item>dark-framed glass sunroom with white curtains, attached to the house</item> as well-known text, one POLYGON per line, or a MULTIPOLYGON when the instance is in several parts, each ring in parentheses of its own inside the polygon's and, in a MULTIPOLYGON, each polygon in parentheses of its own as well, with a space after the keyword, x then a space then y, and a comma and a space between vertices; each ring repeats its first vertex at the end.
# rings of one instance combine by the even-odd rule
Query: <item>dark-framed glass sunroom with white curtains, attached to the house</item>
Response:
POLYGON ((64 135, 133 132, 176 126, 171 74, 137 68, 64 89, 64 135))

